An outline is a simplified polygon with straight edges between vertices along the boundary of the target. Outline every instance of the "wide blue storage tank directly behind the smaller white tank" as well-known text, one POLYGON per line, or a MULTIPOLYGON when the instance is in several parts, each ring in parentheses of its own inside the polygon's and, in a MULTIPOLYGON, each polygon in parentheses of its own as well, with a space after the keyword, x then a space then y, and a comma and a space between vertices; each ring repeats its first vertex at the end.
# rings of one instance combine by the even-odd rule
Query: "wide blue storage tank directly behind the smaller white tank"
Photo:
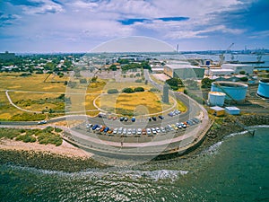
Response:
POLYGON ((235 82, 213 82, 212 92, 226 93, 225 101, 243 102, 246 99, 248 85, 235 82))

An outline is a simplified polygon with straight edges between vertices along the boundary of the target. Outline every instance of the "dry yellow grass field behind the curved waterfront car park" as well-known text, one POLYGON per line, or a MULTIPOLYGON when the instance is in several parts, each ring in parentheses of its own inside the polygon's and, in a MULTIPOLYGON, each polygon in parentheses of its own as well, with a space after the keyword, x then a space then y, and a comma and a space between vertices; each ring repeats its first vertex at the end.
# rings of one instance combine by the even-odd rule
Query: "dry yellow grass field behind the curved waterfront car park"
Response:
MULTIPOLYGON (((111 79, 98 79, 97 83, 80 83, 79 78, 72 78, 75 86, 70 87, 64 83, 51 83, 56 81, 65 81, 68 77, 58 78, 57 75, 50 75, 46 83, 44 80, 48 75, 30 75, 20 76, 18 73, 0 74, 0 119, 2 120, 32 120, 49 119, 51 117, 62 116, 63 110, 70 112, 97 110, 93 101, 100 93, 107 93, 109 89, 117 89, 121 92, 126 87, 143 87, 146 92, 120 93, 120 94, 102 94, 96 103, 103 110, 108 110, 117 114, 124 115, 143 115, 148 113, 158 113, 169 109, 173 103, 163 104, 161 102, 160 92, 147 92, 152 88, 151 84, 144 83, 116 83, 111 79), (42 111, 55 110, 57 113, 39 114, 24 112, 14 108, 7 100, 4 90, 17 90, 18 92, 9 92, 9 95, 16 105, 24 110, 42 111), (21 92, 20 92, 21 91, 21 92), (71 103, 65 105, 64 101, 57 98, 65 93, 65 98, 70 98, 71 103), (92 94, 86 94, 92 93, 92 94), (61 114, 60 114, 61 113, 61 114), (34 115, 34 116, 33 116, 34 115), (21 117, 20 117, 21 116, 21 117)), ((88 78, 87 78, 88 79, 88 78)), ((172 101, 172 99, 170 99, 172 101)), ((178 110, 185 111, 186 107, 178 101, 178 110)), ((95 116, 100 111, 86 112, 86 114, 95 116)))

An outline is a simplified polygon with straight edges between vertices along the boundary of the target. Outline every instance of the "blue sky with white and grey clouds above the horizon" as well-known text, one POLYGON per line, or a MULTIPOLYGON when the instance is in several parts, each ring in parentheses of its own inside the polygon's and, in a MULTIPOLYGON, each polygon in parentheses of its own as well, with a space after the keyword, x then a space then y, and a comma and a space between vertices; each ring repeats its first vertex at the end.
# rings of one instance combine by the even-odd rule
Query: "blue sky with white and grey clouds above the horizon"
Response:
POLYGON ((0 0, 0 52, 89 52, 129 37, 133 48, 143 37, 179 51, 269 48, 268 11, 269 0, 0 0))

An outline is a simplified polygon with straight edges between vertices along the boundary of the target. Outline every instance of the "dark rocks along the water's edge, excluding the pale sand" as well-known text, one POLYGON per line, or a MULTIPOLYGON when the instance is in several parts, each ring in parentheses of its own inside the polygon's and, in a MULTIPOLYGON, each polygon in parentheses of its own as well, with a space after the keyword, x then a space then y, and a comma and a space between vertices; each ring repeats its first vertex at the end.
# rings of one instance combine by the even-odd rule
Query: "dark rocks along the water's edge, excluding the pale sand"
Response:
MULTIPOLYGON (((245 126, 269 125, 268 116, 260 115, 242 115, 239 117, 226 117, 215 120, 213 127, 207 132, 202 145, 196 148, 189 154, 185 154, 180 158, 189 158, 195 154, 199 154, 204 148, 209 147, 217 142, 220 142, 224 136, 231 133, 241 132, 245 126)), ((36 150, 11 150, 0 148, 0 163, 9 163, 15 165, 23 165, 35 167, 44 170, 53 171, 83 171, 91 168, 106 168, 108 166, 94 161, 90 156, 75 157, 63 154, 55 154, 49 151, 36 150)), ((175 156, 174 156, 175 157, 175 156)))

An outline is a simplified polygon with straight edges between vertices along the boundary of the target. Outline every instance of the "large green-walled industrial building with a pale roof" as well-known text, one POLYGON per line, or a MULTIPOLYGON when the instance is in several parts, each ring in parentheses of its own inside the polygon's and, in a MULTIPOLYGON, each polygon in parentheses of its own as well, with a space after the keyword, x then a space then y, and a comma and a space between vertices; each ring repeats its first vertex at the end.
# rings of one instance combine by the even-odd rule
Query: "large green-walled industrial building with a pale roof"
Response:
POLYGON ((204 68, 189 64, 168 64, 164 66, 163 73, 171 78, 203 79, 204 68))

